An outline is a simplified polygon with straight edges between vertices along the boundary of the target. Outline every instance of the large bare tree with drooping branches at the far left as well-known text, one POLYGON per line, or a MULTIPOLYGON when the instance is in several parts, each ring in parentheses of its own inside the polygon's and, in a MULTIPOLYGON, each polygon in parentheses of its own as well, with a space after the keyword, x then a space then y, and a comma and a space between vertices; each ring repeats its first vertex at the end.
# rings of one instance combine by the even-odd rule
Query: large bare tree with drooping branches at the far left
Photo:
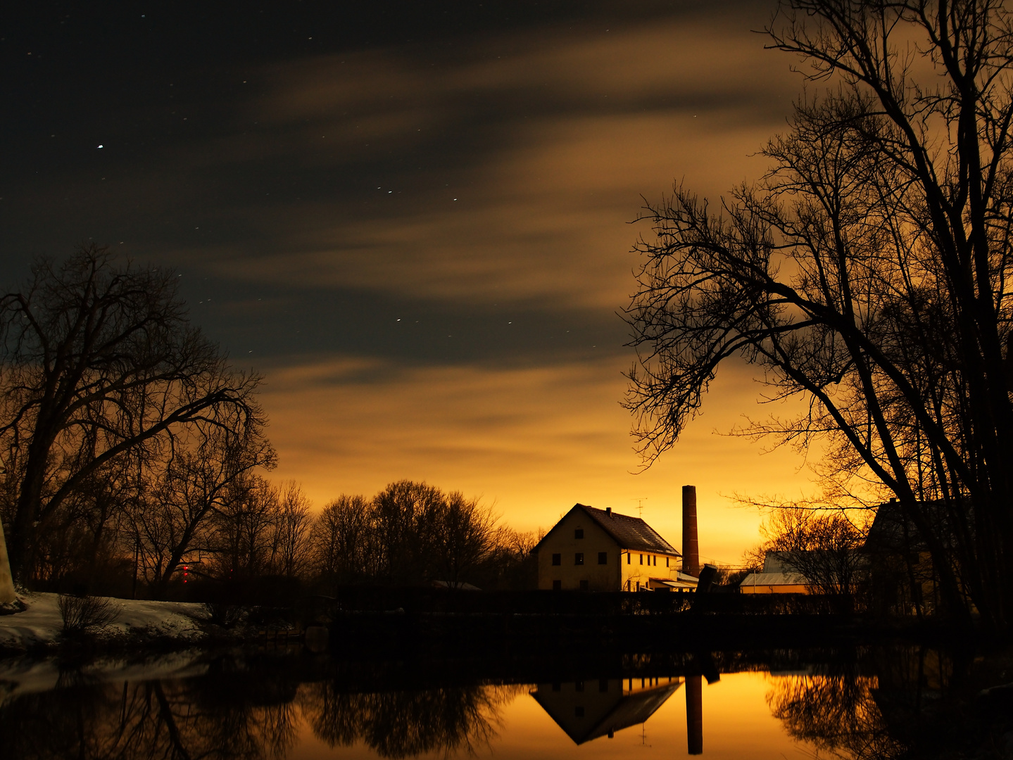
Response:
POLYGON ((190 326, 169 270, 118 265, 95 245, 40 261, 0 300, 0 450, 18 475, 7 535, 30 580, 40 536, 75 490, 129 451, 159 453, 186 425, 259 429, 259 378, 190 326))

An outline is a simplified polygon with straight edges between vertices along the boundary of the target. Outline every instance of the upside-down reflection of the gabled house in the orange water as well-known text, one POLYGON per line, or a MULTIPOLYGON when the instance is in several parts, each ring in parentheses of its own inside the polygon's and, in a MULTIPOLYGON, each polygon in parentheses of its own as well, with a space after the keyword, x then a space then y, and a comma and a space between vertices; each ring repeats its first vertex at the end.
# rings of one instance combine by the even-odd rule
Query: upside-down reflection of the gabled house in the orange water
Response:
POLYGON ((575 744, 638 726, 682 685, 680 678, 603 678, 540 683, 531 692, 575 744))

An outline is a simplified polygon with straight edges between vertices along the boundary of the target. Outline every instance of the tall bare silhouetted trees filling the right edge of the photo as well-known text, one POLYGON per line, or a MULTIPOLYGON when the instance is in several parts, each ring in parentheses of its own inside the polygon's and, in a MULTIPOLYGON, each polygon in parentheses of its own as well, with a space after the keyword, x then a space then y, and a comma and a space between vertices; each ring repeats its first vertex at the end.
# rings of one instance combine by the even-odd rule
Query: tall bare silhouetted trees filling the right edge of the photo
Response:
POLYGON ((629 307, 629 408, 651 460, 744 357, 807 411, 747 432, 830 447, 895 494, 947 607, 1013 622, 1013 25, 1000 0, 785 0, 771 47, 805 96, 767 176, 715 216, 677 187, 629 307), (913 41, 915 40, 915 41, 913 41), (917 46, 917 47, 916 47, 917 46), (943 503, 945 534, 925 504, 943 503))

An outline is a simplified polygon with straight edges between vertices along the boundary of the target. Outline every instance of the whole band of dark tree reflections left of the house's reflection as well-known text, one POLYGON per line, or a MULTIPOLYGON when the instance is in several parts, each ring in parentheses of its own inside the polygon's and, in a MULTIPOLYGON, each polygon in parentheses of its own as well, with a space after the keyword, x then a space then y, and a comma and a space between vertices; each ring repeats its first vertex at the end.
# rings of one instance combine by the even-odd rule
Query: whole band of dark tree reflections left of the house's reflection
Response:
POLYGON ((473 754, 496 736, 523 686, 341 692, 255 673, 121 685, 64 680, 0 704, 4 760, 282 760, 300 708, 331 747, 362 740, 383 757, 473 754))

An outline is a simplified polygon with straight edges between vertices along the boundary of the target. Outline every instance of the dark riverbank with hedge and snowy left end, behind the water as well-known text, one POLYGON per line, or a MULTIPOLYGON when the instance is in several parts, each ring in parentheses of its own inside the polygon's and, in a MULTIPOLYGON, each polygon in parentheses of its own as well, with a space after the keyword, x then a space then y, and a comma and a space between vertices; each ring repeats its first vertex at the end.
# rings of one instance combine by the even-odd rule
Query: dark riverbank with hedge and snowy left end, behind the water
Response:
MULTIPOLYGON (((390 598, 380 600, 391 606, 380 609, 363 609, 367 605, 357 604, 355 598, 331 597, 290 600, 287 607, 110 598, 112 614, 106 624, 70 636, 63 629, 57 594, 24 594, 27 609, 0 615, 0 658, 24 653, 94 657, 193 647, 301 647, 306 630, 314 634, 313 651, 399 651, 418 657, 574 648, 621 652, 633 644, 642 652, 664 652, 674 645, 703 651, 897 640, 943 643, 973 634, 934 620, 875 620, 816 611, 821 600, 805 598, 660 598, 677 596, 672 594, 613 598, 550 592, 431 597, 424 591, 395 591, 388 590, 390 598)), ((375 597, 368 599, 379 606, 375 597)))

